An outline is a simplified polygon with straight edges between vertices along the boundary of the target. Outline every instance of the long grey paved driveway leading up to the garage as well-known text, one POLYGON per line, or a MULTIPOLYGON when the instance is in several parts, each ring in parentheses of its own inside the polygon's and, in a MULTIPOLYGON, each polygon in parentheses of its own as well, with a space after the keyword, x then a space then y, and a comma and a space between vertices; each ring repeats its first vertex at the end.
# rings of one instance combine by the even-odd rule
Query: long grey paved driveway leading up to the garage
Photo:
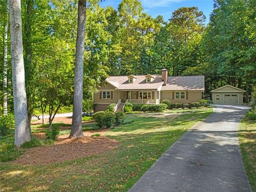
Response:
POLYGON ((252 191, 237 137, 246 110, 242 106, 214 106, 214 113, 175 142, 130 192, 252 191))

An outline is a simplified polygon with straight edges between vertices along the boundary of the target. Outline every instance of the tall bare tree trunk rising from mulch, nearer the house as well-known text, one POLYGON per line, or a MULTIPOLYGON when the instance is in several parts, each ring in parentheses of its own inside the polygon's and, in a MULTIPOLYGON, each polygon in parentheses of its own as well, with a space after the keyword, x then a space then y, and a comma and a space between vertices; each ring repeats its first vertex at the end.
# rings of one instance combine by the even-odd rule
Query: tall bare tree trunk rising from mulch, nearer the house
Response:
POLYGON ((85 41, 86 0, 78 1, 77 38, 76 38, 76 66, 73 117, 69 137, 83 137, 82 130, 82 102, 84 76, 84 41, 85 41))

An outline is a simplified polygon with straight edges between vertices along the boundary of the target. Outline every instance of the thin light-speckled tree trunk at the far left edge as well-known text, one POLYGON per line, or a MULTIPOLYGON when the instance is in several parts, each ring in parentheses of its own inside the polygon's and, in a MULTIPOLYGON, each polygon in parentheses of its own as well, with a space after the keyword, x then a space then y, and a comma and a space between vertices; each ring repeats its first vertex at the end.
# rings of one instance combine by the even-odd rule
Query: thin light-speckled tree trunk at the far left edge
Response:
POLYGON ((4 102, 3 102, 3 114, 7 115, 7 57, 8 57, 8 25, 9 25, 9 10, 8 10, 8 1, 5 0, 5 26, 4 26, 4 69, 3 69, 3 93, 4 93, 4 102))

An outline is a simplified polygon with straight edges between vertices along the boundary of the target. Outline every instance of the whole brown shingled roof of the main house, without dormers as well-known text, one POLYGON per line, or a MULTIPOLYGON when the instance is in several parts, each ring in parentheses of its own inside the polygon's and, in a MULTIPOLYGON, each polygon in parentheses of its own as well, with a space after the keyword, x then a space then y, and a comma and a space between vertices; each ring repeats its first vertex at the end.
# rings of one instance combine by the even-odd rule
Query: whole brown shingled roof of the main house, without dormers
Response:
POLYGON ((145 75, 134 76, 134 82, 129 83, 127 76, 109 76, 106 82, 118 90, 190 90, 204 91, 204 76, 169 76, 163 85, 162 75, 151 75, 154 79, 146 83, 145 75), (161 87, 162 86, 162 87, 161 87))

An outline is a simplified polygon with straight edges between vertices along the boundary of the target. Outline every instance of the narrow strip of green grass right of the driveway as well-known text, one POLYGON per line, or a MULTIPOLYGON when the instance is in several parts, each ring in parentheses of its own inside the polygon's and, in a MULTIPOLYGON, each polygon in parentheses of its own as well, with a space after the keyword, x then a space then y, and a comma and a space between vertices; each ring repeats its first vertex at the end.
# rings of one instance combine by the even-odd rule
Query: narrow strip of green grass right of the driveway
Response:
POLYGON ((252 190, 256 192, 256 120, 244 117, 239 125, 239 143, 252 190))

